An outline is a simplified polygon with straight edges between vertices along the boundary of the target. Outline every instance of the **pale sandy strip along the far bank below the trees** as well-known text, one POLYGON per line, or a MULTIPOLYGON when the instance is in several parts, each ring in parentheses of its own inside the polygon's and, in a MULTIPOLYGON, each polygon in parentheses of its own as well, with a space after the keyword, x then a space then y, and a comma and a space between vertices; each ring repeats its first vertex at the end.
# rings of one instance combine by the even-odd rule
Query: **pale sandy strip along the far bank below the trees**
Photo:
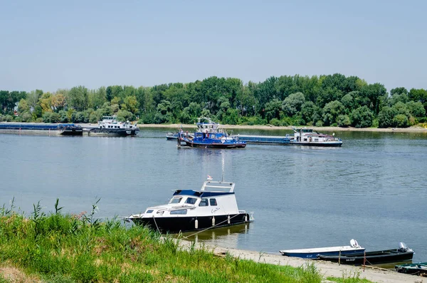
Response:
MULTIPOLYGON (((276 127, 273 125, 221 125, 224 129, 252 129, 252 130, 292 130, 292 126, 276 127)), ((196 128, 194 124, 138 124, 139 128, 196 128)), ((427 127, 427 125, 426 125, 427 127)), ((340 127, 307 127, 318 132, 399 132, 399 133, 427 133, 427 128, 413 126, 410 128, 340 128, 340 127)))

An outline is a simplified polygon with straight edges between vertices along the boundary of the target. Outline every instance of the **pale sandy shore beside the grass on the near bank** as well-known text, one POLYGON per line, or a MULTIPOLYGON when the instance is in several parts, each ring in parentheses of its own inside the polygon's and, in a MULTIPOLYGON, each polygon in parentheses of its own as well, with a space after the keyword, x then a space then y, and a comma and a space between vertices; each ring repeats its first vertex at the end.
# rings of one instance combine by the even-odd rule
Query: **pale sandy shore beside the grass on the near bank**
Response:
MULTIPOLYGON (((188 248, 191 245, 191 242, 181 240, 181 246, 188 248)), ((291 267, 301 267, 306 263, 315 263, 315 266, 320 271, 320 274, 326 279, 327 277, 352 277, 359 274, 359 278, 368 279, 371 282, 379 283, 413 283, 413 282, 423 282, 423 277, 418 277, 414 275, 402 274, 395 272, 391 269, 380 269, 375 267, 353 267, 349 265, 339 265, 332 262, 323 262, 323 261, 314 261, 310 259, 301 259, 297 257, 284 257, 280 254, 267 254, 263 252, 253 252, 243 249, 230 249, 225 247, 218 247, 216 245, 209 244, 199 244, 199 248, 205 247, 208 250, 214 252, 218 256, 225 256, 227 253, 231 254, 233 257, 238 257, 240 259, 251 259, 255 262, 262 262, 268 264, 278 264, 278 265, 290 265, 291 267), (416 281, 418 280, 418 281, 416 281), (421 281, 420 281, 421 280, 421 281)))

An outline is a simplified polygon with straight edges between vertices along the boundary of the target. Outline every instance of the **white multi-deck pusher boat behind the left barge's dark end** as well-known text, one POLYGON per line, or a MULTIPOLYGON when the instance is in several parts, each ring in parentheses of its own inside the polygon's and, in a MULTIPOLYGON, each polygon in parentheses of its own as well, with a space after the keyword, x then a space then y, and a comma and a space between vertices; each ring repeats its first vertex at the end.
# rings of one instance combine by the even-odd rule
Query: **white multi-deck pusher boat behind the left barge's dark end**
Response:
POLYGON ((127 136, 137 135, 139 128, 137 125, 127 122, 117 121, 117 116, 104 116, 98 122, 97 128, 85 129, 88 135, 103 135, 103 136, 127 136))

